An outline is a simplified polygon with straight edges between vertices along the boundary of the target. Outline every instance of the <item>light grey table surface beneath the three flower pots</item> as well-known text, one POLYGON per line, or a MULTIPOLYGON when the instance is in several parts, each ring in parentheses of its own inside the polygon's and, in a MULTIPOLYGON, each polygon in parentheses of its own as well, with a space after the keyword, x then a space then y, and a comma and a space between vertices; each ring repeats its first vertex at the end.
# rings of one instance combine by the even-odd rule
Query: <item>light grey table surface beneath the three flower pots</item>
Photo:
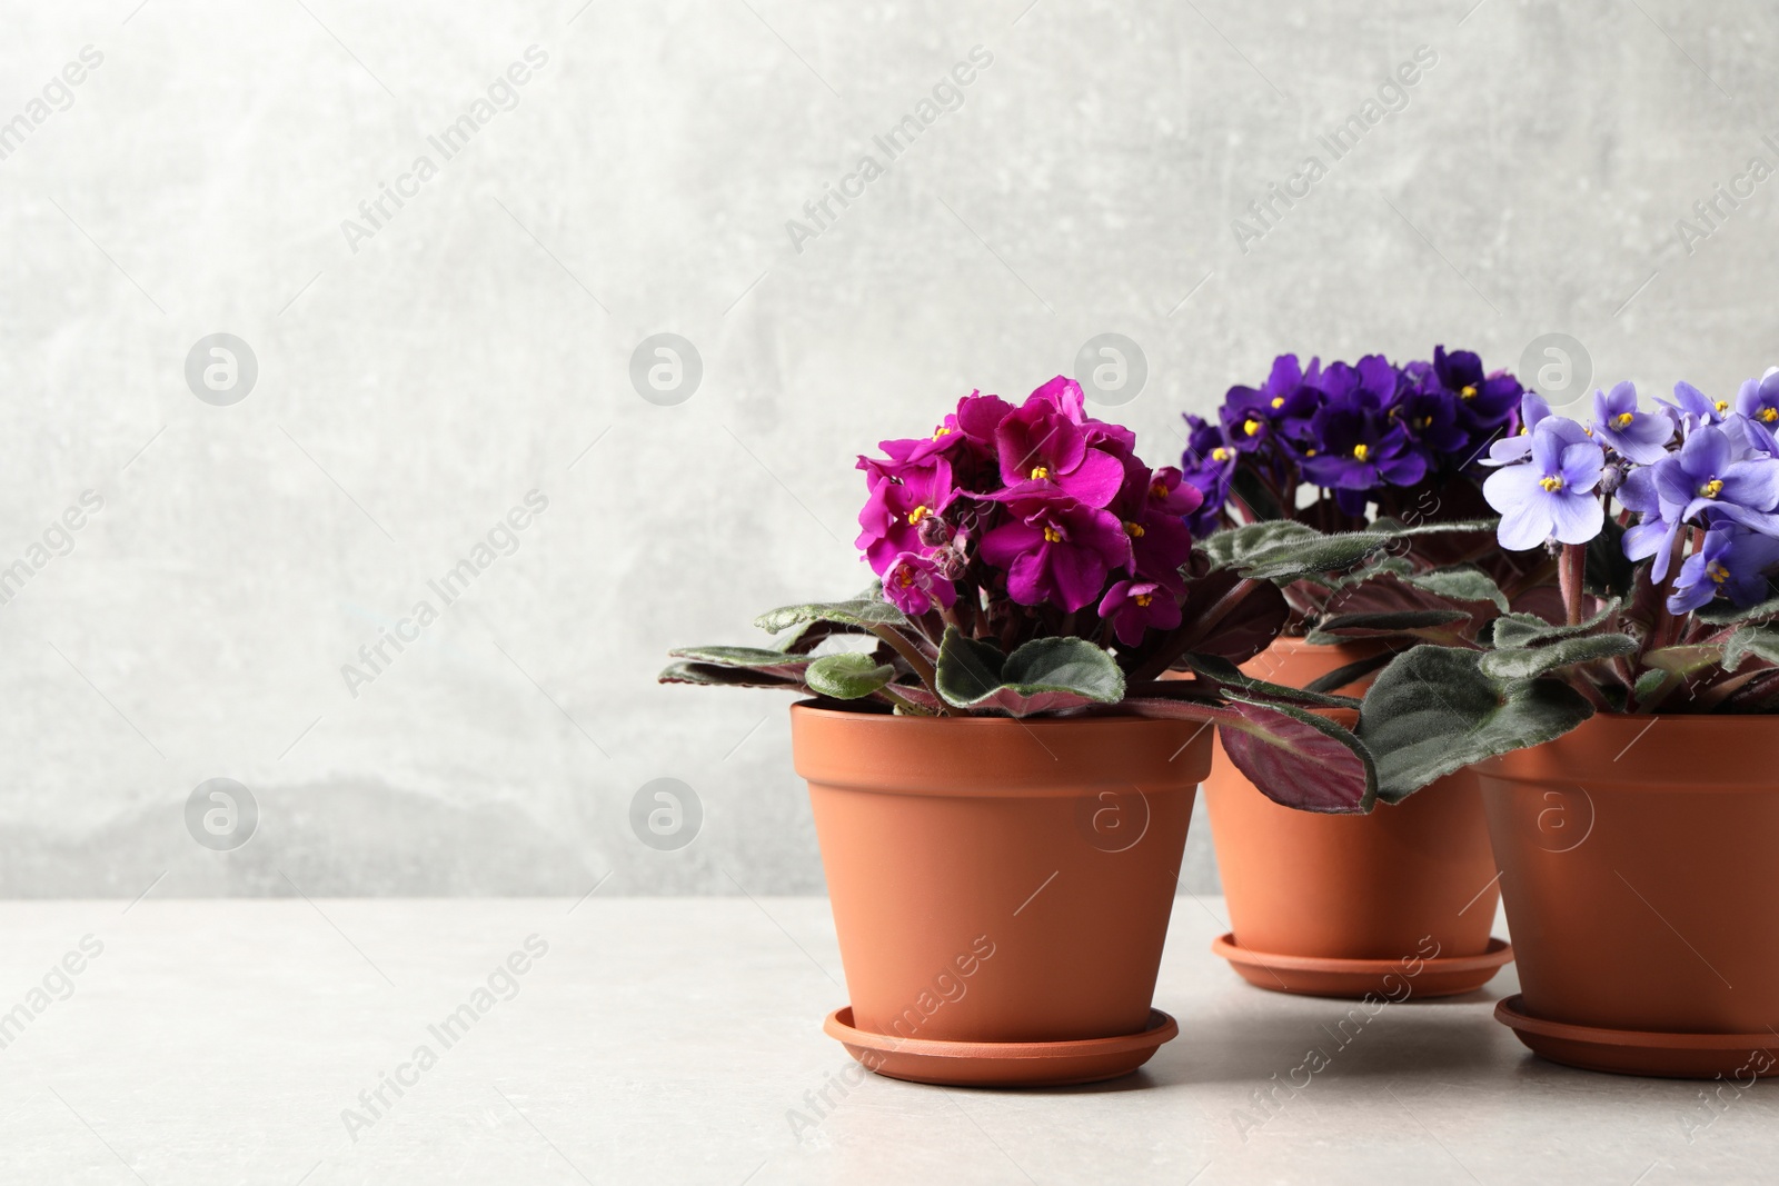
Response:
POLYGON ((1779 1177, 1770 1086, 1708 1099, 1699 1083, 1539 1062, 1491 1019, 1516 987, 1512 967, 1468 998, 1389 1006, 1341 1047, 1331 1028, 1345 1003, 1252 989, 1210 955, 1217 898, 1176 903, 1156 1003, 1181 1033, 1137 1076, 1044 1092, 866 1076, 818 1104, 849 1067, 820 1031, 843 1001, 825 900, 605 893, 578 905, 0 903, 0 1010, 28 1014, 11 1028, 0 1015, 0 1175, 148 1186, 1779 1177), (496 974, 512 953, 525 973, 496 974), (461 1005, 484 1012, 447 1046, 432 1026, 461 1005), (411 1063, 422 1046, 436 1054, 425 1069, 411 1063), (1258 1094, 1311 1047, 1331 1065, 1295 1095, 1279 1092, 1268 1115, 1258 1094), (409 1086, 384 1088, 374 1115, 359 1094, 375 1104, 404 1063, 409 1086))

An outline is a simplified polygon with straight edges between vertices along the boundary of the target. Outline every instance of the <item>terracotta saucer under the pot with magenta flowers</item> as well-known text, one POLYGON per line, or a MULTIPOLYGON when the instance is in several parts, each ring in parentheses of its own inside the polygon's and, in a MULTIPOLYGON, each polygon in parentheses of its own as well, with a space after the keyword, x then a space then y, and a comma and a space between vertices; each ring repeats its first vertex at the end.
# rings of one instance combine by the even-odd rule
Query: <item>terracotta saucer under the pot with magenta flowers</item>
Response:
POLYGON ((836 1008, 822 1030, 866 1069, 891 1079, 941 1086, 1066 1086, 1130 1074, 1179 1033, 1158 1008, 1140 1033, 1078 1042, 941 1042, 900 1038, 852 1026, 852 1006, 836 1008))

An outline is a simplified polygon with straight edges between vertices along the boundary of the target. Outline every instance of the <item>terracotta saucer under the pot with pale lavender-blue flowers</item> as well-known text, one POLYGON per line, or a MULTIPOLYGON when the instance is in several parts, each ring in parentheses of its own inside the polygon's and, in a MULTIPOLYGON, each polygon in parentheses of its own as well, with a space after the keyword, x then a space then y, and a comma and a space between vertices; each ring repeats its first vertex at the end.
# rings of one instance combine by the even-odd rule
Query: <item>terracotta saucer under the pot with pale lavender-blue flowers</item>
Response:
POLYGON ((1765 1033, 1651 1033, 1601 1030, 1544 1021, 1525 1012, 1517 992, 1496 1003, 1494 1019, 1510 1028, 1526 1049, 1583 1070, 1646 1074, 1663 1079, 1738 1079, 1779 1074, 1779 1035, 1765 1033))

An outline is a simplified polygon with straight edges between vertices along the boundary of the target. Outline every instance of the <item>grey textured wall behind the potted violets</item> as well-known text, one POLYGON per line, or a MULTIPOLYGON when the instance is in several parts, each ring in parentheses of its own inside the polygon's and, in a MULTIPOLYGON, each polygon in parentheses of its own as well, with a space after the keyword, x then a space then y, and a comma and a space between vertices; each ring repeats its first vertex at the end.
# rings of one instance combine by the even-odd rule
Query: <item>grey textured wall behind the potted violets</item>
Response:
POLYGON ((653 676, 861 585, 879 437, 1101 333, 1158 464, 1283 349, 1775 361, 1772 5, 1469 2, 7 4, 0 893, 815 891, 783 699, 653 676), (217 333, 251 389, 189 382, 217 333), (703 805, 672 852, 658 777, 703 805))

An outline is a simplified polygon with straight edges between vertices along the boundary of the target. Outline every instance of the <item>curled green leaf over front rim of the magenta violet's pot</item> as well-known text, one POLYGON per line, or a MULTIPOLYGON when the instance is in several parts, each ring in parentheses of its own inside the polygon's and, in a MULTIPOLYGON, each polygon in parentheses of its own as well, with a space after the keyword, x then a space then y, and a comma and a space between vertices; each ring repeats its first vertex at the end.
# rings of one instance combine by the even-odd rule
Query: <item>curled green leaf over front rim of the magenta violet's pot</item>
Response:
POLYGON ((1002 658, 994 645, 946 628, 936 681, 954 708, 1009 717, 1124 699, 1124 672, 1085 638, 1034 638, 1002 658))

